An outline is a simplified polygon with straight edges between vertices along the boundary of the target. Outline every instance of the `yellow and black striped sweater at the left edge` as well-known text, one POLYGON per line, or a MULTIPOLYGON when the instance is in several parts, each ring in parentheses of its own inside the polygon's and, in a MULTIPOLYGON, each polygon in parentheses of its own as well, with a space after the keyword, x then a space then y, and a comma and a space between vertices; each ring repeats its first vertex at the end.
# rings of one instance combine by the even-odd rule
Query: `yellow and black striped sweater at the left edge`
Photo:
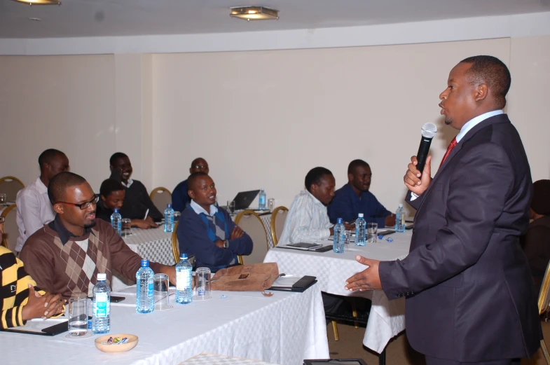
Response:
MULTIPOLYGON (((23 307, 29 301, 29 284, 36 282, 25 272, 23 263, 15 254, 0 246, 0 329, 24 326, 23 307)), ((39 291, 40 294, 45 294, 39 291)))

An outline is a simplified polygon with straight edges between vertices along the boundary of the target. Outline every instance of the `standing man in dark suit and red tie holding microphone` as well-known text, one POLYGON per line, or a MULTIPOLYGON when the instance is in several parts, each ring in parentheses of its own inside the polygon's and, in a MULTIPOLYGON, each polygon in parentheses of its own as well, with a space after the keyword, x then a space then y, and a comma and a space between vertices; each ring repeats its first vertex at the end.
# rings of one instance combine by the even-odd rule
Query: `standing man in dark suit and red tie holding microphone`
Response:
POLYGON ((375 261, 348 290, 406 297, 407 338, 427 365, 519 364, 542 338, 535 287, 519 235, 529 224, 529 163, 502 113, 509 71, 490 56, 457 64, 439 95, 446 125, 460 130, 434 179, 431 158, 404 177, 417 209, 404 260, 375 261))

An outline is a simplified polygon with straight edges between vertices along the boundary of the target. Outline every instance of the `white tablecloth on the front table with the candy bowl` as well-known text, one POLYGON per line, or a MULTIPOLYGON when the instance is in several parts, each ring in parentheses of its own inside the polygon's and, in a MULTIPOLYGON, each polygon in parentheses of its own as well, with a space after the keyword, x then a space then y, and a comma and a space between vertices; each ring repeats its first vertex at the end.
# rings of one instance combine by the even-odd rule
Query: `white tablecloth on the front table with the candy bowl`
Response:
POLYGON ((201 352, 301 365, 329 357, 318 286, 304 293, 214 291, 208 301, 139 314, 111 305, 111 334, 132 333, 139 343, 128 352, 95 348, 97 336, 65 338, 0 332, 1 364, 174 365, 201 352), (221 298, 225 294, 227 298, 221 298))

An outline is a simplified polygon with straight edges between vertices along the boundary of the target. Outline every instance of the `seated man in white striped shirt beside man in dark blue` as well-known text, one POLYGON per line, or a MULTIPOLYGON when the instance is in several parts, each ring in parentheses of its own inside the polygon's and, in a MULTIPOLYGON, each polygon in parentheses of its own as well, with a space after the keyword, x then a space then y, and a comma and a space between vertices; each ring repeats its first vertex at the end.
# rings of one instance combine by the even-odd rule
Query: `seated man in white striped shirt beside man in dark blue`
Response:
MULTIPOLYGON (((334 235, 334 225, 329 221, 326 206, 334 198, 336 181, 332 172, 324 167, 315 167, 305 175, 305 188, 290 207, 279 245, 298 242, 319 242, 334 235)), ((345 223, 345 229, 355 226, 345 223)))

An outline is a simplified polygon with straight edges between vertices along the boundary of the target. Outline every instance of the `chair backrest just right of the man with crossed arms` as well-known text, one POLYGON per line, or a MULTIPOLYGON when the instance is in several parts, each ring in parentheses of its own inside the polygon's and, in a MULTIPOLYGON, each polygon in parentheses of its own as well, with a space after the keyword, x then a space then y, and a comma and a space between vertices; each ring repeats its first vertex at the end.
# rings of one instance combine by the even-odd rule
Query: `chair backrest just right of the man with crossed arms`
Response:
POLYGON ((245 210, 240 212, 235 218, 235 224, 237 224, 242 230, 244 230, 254 243, 252 254, 246 256, 244 259, 239 257, 239 262, 244 263, 263 263, 263 259, 268 253, 268 234, 266 233, 266 227, 263 226, 263 222, 258 214, 252 210, 245 210))

